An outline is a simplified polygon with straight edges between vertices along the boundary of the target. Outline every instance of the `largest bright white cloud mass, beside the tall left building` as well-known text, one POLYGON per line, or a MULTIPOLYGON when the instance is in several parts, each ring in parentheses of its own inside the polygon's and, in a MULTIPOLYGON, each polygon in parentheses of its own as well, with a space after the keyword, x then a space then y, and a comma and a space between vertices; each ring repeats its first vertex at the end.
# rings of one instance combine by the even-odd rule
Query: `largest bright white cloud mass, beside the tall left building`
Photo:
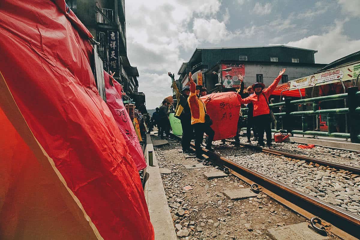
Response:
MULTIPOLYGON (((193 51, 207 41, 205 37, 199 39, 195 31, 189 29, 190 23, 194 18, 214 19, 221 0, 132 0, 125 4, 127 55, 130 63, 139 69, 139 91, 144 91, 147 107, 153 108, 159 99, 171 93, 170 82, 153 87, 154 81, 164 80, 164 76, 170 81, 167 72, 177 73, 181 63, 188 60, 182 59, 180 53, 193 51), (154 98, 155 95, 158 97, 154 98)), ((209 21, 215 23, 216 31, 221 31, 222 24, 225 26, 209 21)))

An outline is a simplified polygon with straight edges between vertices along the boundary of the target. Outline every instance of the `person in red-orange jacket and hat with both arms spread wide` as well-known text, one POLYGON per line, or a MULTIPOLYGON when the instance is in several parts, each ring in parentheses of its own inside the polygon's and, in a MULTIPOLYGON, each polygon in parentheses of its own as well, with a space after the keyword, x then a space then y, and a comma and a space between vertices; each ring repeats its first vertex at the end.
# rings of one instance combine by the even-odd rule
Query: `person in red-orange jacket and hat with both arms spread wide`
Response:
POLYGON ((264 146, 264 132, 266 132, 266 144, 271 147, 271 117, 269 108, 269 97, 275 90, 286 68, 279 72, 279 76, 265 89, 264 83, 257 82, 252 85, 253 95, 240 99, 242 104, 253 104, 253 121, 258 135, 258 145, 264 146))

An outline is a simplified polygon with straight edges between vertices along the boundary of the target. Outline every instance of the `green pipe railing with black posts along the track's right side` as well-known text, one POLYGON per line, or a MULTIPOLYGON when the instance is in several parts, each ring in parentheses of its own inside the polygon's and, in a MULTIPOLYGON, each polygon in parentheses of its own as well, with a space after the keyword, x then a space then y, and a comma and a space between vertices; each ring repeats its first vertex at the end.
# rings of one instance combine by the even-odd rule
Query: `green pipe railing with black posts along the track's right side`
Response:
MULTIPOLYGON (((307 98, 300 100, 285 99, 285 102, 269 104, 272 107, 285 106, 284 113, 274 113, 274 116, 280 117, 282 119, 283 129, 287 130, 275 130, 273 132, 290 132, 292 134, 300 134, 300 135, 312 135, 312 136, 324 136, 324 137, 337 137, 337 138, 345 138, 351 139, 351 142, 360 143, 360 91, 358 91, 357 87, 348 87, 348 93, 343 94, 335 94, 330 96, 321 96, 316 98, 307 98), (319 101, 332 101, 332 100, 346 100, 345 108, 336 108, 336 109, 320 109, 318 110, 319 101), (304 104, 304 103, 313 103, 313 110, 307 111, 297 111, 294 104, 304 104), (347 114, 350 122, 350 133, 343 132, 332 132, 334 128, 334 118, 335 114, 347 114), (327 124, 328 124, 328 132, 321 131, 307 131, 307 122, 309 119, 306 116, 314 116, 314 115, 327 115, 327 124), (302 116, 302 130, 294 130, 293 123, 294 117, 302 116)), ((248 108, 242 108, 243 112, 247 111, 248 108)), ((243 118, 246 118, 247 115, 244 115, 243 118)), ((345 123, 347 126, 347 122, 345 123)), ((276 126, 275 126, 276 127, 276 126)), ((246 130, 246 128, 243 128, 246 130)), ((315 128, 314 128, 315 129, 315 128)))

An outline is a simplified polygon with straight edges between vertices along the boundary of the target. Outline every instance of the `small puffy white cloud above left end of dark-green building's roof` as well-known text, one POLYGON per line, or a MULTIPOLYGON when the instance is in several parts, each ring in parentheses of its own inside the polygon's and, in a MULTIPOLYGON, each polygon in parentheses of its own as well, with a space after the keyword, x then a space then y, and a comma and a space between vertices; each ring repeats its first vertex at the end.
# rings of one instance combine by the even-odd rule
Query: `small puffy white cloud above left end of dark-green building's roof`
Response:
POLYGON ((193 31, 198 39, 212 44, 232 37, 232 34, 226 29, 225 23, 219 22, 217 19, 195 18, 193 31))

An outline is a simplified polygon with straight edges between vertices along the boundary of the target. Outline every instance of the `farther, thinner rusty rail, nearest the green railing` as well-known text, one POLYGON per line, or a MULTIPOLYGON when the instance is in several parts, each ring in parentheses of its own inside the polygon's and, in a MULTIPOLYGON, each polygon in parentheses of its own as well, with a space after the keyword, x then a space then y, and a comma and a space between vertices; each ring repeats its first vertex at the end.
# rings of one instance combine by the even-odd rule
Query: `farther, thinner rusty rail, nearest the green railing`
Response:
POLYGON ((283 155, 284 157, 288 157, 288 158, 294 158, 294 159, 301 159, 301 160, 305 160, 306 162, 313 162, 313 163, 318 163, 320 165, 323 166, 329 166, 329 167, 333 167, 336 169, 343 169, 343 170, 347 170, 353 173, 357 173, 360 174, 360 168, 359 167, 353 167, 353 166, 348 166, 345 164, 340 164, 340 163, 334 163, 334 162, 330 162, 330 161, 325 161, 325 160, 319 160, 319 159, 315 159, 315 158, 309 158, 303 155, 296 155, 296 154, 291 154, 291 153, 287 153, 287 152, 283 152, 283 151, 278 151, 275 149, 269 149, 269 148, 262 148, 260 146, 256 146, 256 145, 251 145, 251 144, 246 144, 243 142, 235 142, 234 140, 229 140, 226 139, 226 141, 228 142, 232 142, 250 149, 255 149, 255 150, 259 150, 262 151, 264 153, 270 153, 270 154, 274 154, 274 155, 283 155))

